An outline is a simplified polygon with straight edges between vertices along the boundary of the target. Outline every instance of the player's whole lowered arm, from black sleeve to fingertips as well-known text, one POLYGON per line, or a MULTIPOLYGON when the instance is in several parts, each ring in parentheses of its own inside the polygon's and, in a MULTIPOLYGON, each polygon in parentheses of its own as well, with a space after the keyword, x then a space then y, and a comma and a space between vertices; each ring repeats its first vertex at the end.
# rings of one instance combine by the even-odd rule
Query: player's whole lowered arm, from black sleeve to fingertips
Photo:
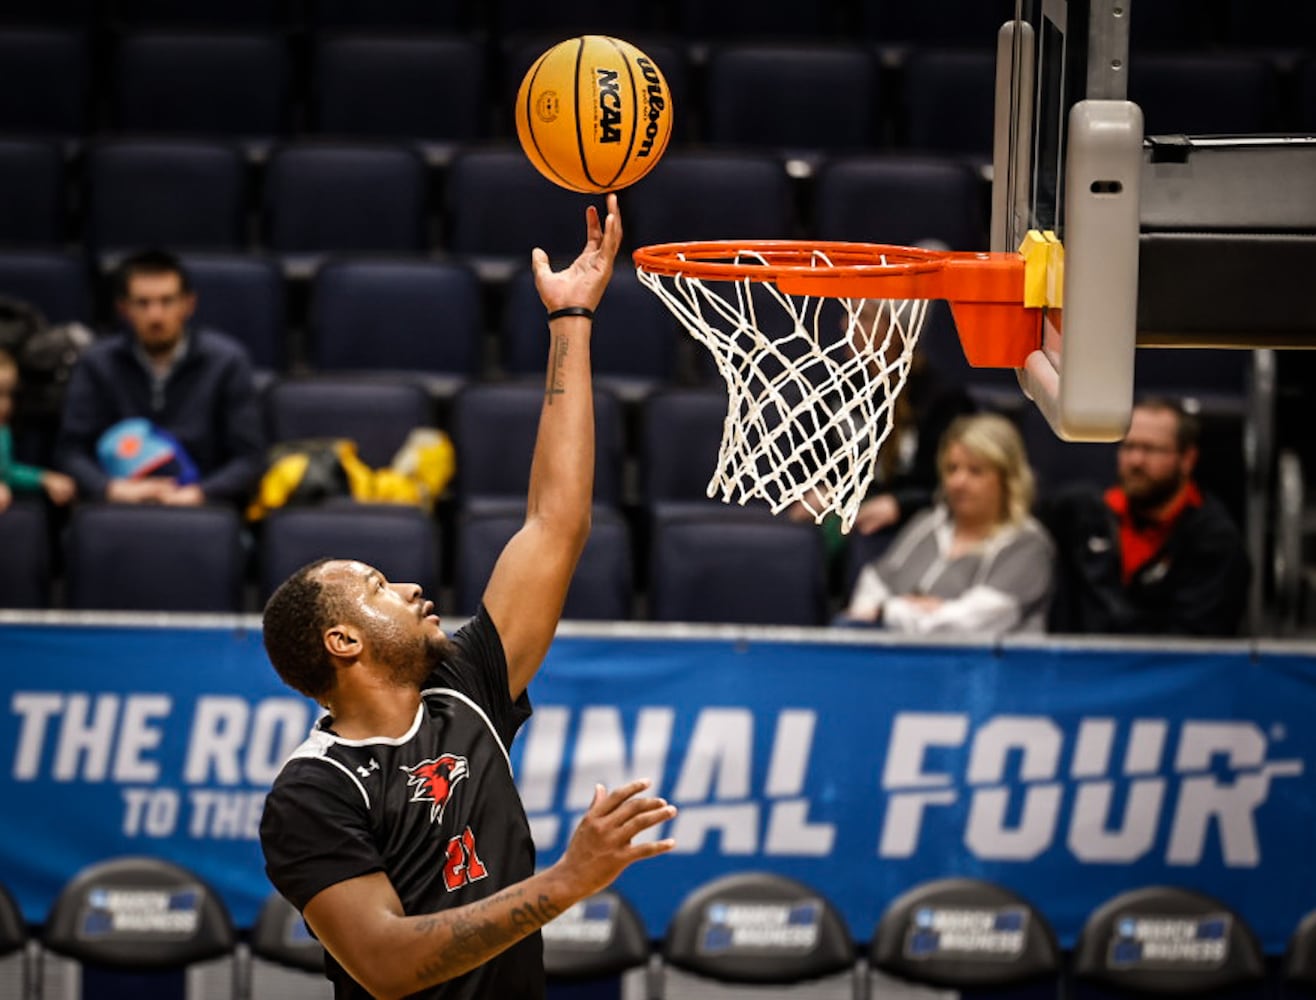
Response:
POLYGON ((670 839, 632 843, 676 814, 662 799, 641 796, 647 786, 600 786, 555 864, 479 903, 409 917, 388 876, 372 872, 317 893, 303 916, 371 996, 403 997, 447 982, 609 886, 628 864, 671 850, 670 839))

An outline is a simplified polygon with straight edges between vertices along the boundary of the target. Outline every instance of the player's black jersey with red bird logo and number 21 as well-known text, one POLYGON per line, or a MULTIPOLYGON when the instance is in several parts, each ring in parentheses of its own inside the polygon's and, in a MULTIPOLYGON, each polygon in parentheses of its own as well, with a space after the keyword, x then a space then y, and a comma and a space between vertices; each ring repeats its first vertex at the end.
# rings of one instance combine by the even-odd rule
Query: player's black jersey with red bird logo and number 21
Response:
MULTIPOLYGON (((405 736, 342 739, 322 718, 274 780, 261 846, 270 882, 297 909, 374 871, 388 875, 409 916, 465 907, 534 872, 507 754, 529 699, 512 701, 503 643, 483 608, 453 643, 405 736)), ((368 997, 332 955, 325 975, 336 997, 368 997)), ((542 939, 532 934, 416 996, 542 997, 542 939)))

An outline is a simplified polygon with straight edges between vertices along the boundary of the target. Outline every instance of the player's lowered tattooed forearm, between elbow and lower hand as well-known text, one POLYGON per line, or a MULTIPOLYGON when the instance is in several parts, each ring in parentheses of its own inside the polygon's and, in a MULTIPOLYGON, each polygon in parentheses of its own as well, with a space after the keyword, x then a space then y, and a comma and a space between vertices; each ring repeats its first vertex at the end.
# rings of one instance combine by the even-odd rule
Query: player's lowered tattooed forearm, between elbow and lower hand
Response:
POLYGON ((387 942, 378 957, 383 982, 363 986, 390 997, 455 979, 529 937, 579 899, 567 880, 549 868, 479 903, 404 917, 397 922, 397 939, 387 942))

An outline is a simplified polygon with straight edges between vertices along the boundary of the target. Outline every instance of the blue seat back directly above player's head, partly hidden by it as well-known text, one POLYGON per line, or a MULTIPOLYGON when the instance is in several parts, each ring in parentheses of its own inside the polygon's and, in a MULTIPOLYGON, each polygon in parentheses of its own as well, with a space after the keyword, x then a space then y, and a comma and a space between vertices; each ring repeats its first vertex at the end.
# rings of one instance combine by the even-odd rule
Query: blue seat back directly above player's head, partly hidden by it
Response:
POLYGON ((438 533, 417 507, 334 503, 288 507, 266 518, 261 534, 261 600, 316 559, 357 559, 393 583, 418 583, 438 600, 438 533))

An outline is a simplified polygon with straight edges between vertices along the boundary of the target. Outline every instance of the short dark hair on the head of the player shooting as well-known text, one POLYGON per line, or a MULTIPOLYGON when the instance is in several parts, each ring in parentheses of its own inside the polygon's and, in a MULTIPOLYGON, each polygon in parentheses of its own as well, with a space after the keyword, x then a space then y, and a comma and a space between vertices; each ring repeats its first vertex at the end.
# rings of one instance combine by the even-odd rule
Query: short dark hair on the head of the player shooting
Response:
POLYGON ((316 559, 280 583, 261 617, 266 655, 283 683, 321 704, 334 686, 324 633, 341 617, 340 599, 318 579, 328 562, 316 559))

